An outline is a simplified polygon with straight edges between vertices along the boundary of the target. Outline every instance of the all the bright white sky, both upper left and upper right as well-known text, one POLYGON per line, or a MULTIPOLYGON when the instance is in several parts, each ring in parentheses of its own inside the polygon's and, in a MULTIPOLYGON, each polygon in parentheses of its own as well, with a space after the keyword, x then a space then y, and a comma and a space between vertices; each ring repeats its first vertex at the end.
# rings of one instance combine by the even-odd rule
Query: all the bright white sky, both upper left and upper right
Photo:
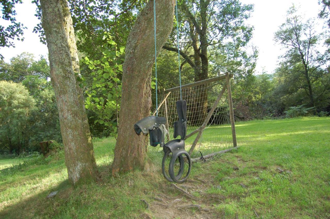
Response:
MULTIPOLYGON (((273 73, 276 68, 278 56, 283 53, 280 45, 275 45, 273 41, 274 33, 285 21, 286 11, 292 5, 300 6, 299 11, 307 18, 316 17, 321 6, 318 0, 241 0, 244 4, 254 4, 254 12, 248 23, 254 26, 252 43, 259 49, 256 73, 260 73, 262 68, 268 73, 273 73)), ((32 33, 33 27, 39 23, 34 16, 36 6, 31 0, 24 0, 23 4, 16 5, 17 21, 23 23, 28 29, 24 30, 25 40, 15 41, 16 47, 1 48, 0 53, 9 60, 22 52, 33 53, 36 59, 40 55, 47 56, 47 46, 39 41, 37 34, 32 33)), ((8 23, 0 18, 0 25, 7 26, 8 23)), ((323 24, 320 23, 320 26, 323 24)))

